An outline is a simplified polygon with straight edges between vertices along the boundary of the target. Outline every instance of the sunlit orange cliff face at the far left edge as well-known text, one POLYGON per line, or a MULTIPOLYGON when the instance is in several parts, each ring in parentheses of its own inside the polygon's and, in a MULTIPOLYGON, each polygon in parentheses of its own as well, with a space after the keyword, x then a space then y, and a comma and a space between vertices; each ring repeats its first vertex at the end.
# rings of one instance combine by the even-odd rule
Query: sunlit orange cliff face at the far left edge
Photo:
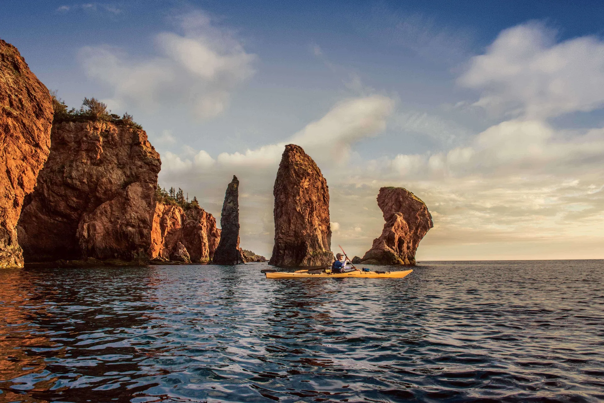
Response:
POLYGON ((50 150, 53 103, 17 48, 0 39, 0 268, 23 267, 17 221, 50 150))

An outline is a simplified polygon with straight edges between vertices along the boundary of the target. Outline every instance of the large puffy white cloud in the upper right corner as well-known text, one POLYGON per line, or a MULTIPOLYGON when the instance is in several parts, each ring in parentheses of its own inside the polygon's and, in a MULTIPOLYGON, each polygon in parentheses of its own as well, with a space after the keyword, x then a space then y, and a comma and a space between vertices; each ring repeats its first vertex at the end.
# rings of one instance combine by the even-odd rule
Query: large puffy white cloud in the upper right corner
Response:
POLYGON ((474 105, 495 115, 542 119, 604 106, 604 42, 556 43, 554 34, 535 23, 502 31, 458 84, 480 90, 474 105))

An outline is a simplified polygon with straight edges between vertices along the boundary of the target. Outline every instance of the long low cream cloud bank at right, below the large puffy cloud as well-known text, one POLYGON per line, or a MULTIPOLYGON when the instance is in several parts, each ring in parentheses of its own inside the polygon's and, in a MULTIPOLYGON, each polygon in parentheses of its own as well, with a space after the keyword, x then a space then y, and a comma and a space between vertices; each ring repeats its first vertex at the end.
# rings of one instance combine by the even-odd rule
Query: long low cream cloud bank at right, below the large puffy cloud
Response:
POLYGON ((504 121, 465 147, 441 153, 399 154, 392 168, 405 177, 498 177, 509 174, 580 173, 604 163, 604 129, 571 139, 542 121, 504 121))

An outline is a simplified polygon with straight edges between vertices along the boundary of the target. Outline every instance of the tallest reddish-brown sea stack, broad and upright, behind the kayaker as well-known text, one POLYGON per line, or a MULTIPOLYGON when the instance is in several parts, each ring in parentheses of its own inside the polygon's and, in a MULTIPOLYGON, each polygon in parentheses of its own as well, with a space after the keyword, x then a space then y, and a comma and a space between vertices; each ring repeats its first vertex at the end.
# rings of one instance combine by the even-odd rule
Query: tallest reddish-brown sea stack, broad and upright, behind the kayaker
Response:
POLYGON ((295 144, 285 146, 275 196, 275 245, 269 264, 322 266, 333 262, 329 188, 316 163, 295 144))

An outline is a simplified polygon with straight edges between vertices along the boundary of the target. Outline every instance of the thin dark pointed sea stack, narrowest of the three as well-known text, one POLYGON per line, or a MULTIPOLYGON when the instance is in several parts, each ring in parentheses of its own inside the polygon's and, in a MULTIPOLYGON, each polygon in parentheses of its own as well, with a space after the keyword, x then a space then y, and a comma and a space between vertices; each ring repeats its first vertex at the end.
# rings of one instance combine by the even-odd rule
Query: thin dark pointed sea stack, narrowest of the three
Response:
POLYGON ((213 264, 243 264, 245 260, 239 247, 239 180, 234 175, 226 188, 220 227, 220 242, 214 252, 213 264))

